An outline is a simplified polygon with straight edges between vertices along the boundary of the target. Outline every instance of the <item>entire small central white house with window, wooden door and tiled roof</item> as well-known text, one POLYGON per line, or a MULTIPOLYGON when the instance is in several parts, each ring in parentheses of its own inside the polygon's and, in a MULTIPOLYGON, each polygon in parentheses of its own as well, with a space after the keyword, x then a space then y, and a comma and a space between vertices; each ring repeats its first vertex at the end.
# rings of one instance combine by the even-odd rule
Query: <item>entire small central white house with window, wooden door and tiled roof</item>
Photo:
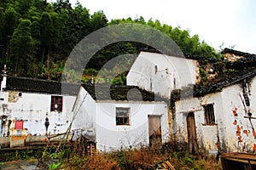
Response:
POLYGON ((102 151, 169 141, 167 100, 134 86, 84 84, 73 107, 73 129, 102 151))

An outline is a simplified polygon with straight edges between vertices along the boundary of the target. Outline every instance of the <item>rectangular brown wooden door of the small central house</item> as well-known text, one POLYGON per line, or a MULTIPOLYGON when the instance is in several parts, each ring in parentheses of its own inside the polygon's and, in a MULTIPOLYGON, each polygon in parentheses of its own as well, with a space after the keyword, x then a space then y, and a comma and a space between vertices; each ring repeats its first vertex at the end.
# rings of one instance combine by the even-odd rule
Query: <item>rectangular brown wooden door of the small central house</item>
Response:
POLYGON ((154 149, 162 147, 160 116, 148 116, 149 146, 154 149))

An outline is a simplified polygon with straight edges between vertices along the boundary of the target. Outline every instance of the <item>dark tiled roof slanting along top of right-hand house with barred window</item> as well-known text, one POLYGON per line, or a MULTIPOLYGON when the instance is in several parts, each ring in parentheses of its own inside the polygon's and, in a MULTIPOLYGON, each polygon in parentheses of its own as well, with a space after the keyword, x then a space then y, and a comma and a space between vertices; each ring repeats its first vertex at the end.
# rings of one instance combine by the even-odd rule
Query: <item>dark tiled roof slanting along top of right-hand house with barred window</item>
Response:
POLYGON ((230 75, 219 82, 214 82, 207 86, 194 85, 193 87, 184 87, 183 89, 173 90, 172 99, 178 100, 180 97, 202 97, 206 94, 222 91, 223 88, 229 87, 236 83, 242 82, 245 79, 250 79, 256 76, 256 67, 239 71, 236 75, 230 75))

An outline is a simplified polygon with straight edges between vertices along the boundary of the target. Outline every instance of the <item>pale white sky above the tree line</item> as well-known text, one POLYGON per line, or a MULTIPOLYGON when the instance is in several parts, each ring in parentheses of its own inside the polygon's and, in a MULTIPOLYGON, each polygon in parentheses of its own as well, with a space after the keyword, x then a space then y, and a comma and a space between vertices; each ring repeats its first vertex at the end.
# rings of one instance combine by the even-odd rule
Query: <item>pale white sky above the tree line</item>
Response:
MULTIPOLYGON (((75 4, 77 0, 70 0, 75 4)), ((90 14, 102 10, 108 20, 143 18, 189 29, 213 48, 256 54, 255 0, 79 0, 90 14)))

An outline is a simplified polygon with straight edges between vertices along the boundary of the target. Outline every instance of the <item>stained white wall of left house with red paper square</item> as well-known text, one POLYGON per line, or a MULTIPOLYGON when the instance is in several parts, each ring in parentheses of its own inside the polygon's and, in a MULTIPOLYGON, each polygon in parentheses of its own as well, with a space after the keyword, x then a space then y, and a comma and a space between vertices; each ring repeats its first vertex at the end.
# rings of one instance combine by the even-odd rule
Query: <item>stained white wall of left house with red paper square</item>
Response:
MULTIPOLYGON (((22 134, 45 135, 46 128, 44 126, 45 118, 49 118, 48 133, 65 133, 69 126, 72 113, 72 105, 75 96, 63 96, 62 112, 50 111, 50 94, 31 94, 8 91, 4 92, 5 100, 3 103, 7 104, 8 121, 12 121, 10 125, 10 135, 17 135, 15 130, 15 121, 24 121, 22 134)), ((8 131, 8 123, 3 127, 5 135, 8 131)), ((19 133, 20 134, 20 133, 19 133)))

